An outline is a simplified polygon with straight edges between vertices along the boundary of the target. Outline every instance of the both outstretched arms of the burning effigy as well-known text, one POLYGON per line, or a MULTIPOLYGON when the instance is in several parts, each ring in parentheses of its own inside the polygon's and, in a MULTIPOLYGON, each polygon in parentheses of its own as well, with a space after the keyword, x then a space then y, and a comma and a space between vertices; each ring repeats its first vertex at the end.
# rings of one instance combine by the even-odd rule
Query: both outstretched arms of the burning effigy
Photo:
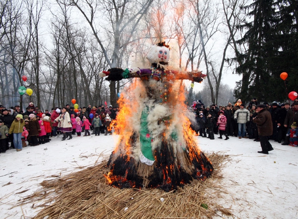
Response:
POLYGON ((151 70, 151 69, 121 69, 121 68, 112 68, 108 71, 102 71, 99 73, 99 76, 105 77, 107 76, 106 80, 109 81, 117 81, 122 80, 124 78, 133 78, 133 77, 140 77, 143 79, 149 79, 149 77, 157 77, 160 78, 162 74, 166 74, 166 77, 171 80, 191 80, 195 82, 202 82, 203 79, 207 76, 203 74, 202 71, 193 71, 193 72, 182 72, 182 71, 171 71, 165 69, 161 70, 151 70))

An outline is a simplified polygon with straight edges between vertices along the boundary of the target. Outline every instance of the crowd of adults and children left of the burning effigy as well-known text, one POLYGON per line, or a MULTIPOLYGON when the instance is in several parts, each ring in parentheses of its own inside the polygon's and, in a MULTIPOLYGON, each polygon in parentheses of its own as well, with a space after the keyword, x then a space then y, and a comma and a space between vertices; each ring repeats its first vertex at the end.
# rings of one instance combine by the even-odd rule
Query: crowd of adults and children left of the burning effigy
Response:
POLYGON ((67 104, 42 112, 31 102, 26 111, 18 105, 6 109, 0 105, 0 152, 9 148, 21 151, 22 147, 38 146, 51 141, 51 137, 63 134, 62 141, 77 137, 95 135, 112 135, 112 121, 116 119, 118 107, 93 106, 78 108, 67 104), (91 132, 91 133, 90 133, 91 132))

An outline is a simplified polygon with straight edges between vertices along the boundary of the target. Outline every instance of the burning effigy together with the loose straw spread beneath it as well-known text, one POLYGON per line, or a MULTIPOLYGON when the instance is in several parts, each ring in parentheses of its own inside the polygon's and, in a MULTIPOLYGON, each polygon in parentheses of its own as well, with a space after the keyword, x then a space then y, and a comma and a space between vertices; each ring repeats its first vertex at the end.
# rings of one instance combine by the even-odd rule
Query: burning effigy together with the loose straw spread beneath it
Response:
POLYGON ((209 154, 211 163, 197 146, 186 116, 182 80, 202 82, 206 75, 169 70, 164 43, 154 46, 148 59, 150 69, 101 73, 108 80, 133 78, 118 101, 121 111, 113 128, 120 136, 110 157, 78 172, 51 176, 54 179, 44 180, 42 189, 15 207, 29 204, 40 210, 35 219, 231 215, 215 201, 221 197, 218 180, 226 157, 209 154))

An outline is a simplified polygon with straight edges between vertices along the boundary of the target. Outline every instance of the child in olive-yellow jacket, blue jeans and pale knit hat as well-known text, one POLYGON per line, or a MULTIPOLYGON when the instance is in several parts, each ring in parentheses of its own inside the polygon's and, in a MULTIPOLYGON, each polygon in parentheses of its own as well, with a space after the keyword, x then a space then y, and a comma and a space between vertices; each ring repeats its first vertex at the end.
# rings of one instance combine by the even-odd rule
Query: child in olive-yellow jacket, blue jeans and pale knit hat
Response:
POLYGON ((16 148, 16 151, 22 150, 22 132, 25 122, 21 114, 16 115, 15 119, 11 123, 8 134, 13 133, 13 145, 16 148))

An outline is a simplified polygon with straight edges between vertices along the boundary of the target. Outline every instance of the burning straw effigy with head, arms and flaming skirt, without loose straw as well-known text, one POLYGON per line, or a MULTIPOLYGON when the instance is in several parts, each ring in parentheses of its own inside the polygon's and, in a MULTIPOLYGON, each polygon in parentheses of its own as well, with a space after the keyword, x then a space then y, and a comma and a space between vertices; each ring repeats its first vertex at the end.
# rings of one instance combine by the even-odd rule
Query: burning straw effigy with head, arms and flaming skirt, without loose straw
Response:
POLYGON ((169 52, 165 42, 158 43, 147 56, 151 68, 100 73, 110 81, 133 78, 118 101, 121 137, 104 175, 113 187, 171 191, 213 172, 193 138, 182 84, 183 79, 202 82, 206 75, 168 69, 169 52))

